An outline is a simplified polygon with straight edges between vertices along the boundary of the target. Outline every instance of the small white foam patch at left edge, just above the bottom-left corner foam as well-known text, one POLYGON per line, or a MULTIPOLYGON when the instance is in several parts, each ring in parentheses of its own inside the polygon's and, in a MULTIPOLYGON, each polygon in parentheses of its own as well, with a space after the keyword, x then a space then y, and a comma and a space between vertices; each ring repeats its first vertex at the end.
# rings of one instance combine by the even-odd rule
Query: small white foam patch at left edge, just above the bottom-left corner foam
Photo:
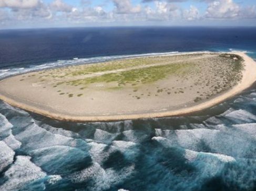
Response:
POLYGON ((15 152, 5 142, 0 141, 0 172, 13 163, 14 154, 15 152))

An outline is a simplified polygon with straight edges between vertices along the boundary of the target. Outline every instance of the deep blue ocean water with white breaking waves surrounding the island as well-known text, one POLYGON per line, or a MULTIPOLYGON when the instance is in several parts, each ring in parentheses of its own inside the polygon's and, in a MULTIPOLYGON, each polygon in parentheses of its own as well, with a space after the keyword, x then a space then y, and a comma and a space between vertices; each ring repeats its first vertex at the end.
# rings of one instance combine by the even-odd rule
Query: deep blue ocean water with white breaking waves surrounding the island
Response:
MULTIPOLYGON (((0 30, 0 77, 235 50, 256 60, 256 28, 0 30)), ((0 190, 254 191, 256 85, 189 116, 116 122, 56 121, 0 101, 0 190)))

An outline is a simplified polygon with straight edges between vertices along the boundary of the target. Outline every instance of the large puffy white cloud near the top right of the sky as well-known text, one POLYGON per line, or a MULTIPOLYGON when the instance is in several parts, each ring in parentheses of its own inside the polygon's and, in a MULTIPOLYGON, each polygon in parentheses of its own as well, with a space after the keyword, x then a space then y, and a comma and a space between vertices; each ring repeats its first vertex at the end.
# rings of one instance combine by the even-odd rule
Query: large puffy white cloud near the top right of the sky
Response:
POLYGON ((236 18, 240 7, 232 0, 218 0, 210 3, 206 11, 207 18, 236 18))

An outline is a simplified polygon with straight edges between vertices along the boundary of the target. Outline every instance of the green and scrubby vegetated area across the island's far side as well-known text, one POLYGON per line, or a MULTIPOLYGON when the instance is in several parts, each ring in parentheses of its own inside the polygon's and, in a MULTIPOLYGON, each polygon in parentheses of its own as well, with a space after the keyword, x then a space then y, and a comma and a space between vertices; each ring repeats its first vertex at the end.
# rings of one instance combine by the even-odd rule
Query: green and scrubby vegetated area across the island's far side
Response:
POLYGON ((68 97, 80 97, 89 87, 105 91, 121 91, 128 87, 129 96, 135 99, 163 94, 182 96, 190 92, 194 95, 194 102, 199 102, 239 83, 243 67, 243 59, 236 54, 184 54, 74 65, 24 75, 21 81, 34 76, 36 83, 45 84, 43 88, 48 87, 46 84, 58 87, 56 91, 60 95, 67 92, 65 89, 70 88, 67 86, 73 86, 74 91, 70 89, 70 92, 74 95, 65 93, 68 97), (125 71, 117 71, 120 69, 125 71), (95 74, 98 72, 105 74, 95 74), (88 74, 93 75, 89 77, 88 74), (171 81, 169 87, 168 81, 164 81, 164 85, 158 83, 163 79, 171 81), (149 88, 146 92, 145 87, 149 88))

